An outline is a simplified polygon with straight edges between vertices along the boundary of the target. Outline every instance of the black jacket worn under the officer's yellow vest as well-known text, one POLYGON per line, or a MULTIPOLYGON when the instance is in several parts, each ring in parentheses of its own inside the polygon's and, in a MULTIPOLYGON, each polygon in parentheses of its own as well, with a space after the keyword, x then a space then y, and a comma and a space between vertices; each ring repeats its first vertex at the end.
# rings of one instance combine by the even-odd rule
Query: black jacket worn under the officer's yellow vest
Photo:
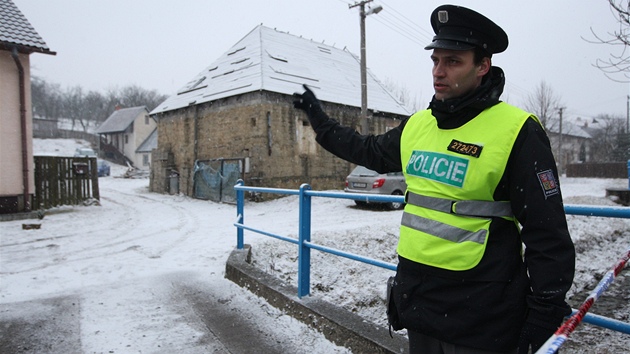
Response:
MULTIPOLYGON (((429 109, 438 127, 459 127, 498 103, 504 82, 502 70, 493 67, 473 93, 445 102, 434 99, 429 109)), ((400 138, 406 120, 385 134, 364 136, 319 114, 316 139, 326 150, 381 173, 402 170, 400 138)), ((399 257, 394 301, 406 328, 454 344, 503 351, 517 346, 524 321, 556 329, 570 314, 565 295, 573 282, 575 250, 559 185, 555 191, 541 185, 539 173, 547 170, 558 182, 549 139, 530 118, 494 192, 495 200, 510 200, 520 234, 513 223, 495 218, 483 259, 464 272, 399 257)))

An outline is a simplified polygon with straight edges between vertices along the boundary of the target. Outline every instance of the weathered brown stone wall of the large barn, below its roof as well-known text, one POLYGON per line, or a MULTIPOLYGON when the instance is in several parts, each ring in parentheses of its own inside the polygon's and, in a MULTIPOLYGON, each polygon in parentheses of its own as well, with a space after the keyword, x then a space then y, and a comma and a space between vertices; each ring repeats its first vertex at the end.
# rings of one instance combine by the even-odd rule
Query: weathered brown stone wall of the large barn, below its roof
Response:
MULTIPOLYGON (((324 109, 351 126, 360 113, 359 108, 337 105, 324 109)), ((195 160, 248 157, 245 183, 272 188, 309 183, 314 189, 342 189, 353 167, 315 142, 315 133, 304 113, 293 108, 291 96, 249 93, 155 117, 161 163, 152 165, 153 191, 166 191, 165 181, 176 170, 180 192, 192 195, 195 160)), ((381 133, 400 121, 373 118, 371 123, 372 131, 381 133)))

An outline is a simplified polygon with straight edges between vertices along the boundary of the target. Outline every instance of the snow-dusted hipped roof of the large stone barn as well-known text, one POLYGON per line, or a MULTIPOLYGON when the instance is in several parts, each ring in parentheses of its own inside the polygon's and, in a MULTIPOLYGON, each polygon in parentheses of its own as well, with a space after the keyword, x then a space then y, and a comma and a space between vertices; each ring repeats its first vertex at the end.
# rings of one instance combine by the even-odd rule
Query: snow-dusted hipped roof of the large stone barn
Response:
MULTIPOLYGON (((360 107, 360 58, 259 25, 151 114, 262 90, 293 95, 302 84, 322 101, 360 107)), ((369 70, 367 87, 368 109, 410 114, 369 70)))

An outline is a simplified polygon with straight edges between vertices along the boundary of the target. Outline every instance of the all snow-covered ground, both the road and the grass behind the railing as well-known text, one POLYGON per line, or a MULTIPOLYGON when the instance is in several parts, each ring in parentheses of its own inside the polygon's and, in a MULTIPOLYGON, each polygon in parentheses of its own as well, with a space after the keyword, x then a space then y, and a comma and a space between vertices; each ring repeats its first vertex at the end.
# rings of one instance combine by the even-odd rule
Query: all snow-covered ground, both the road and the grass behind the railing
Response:
MULTIPOLYGON (((35 139, 34 152, 71 156, 84 145, 35 139)), ((42 220, 0 223, 0 320, 37 316, 41 308, 27 304, 41 306, 47 299, 71 298, 80 310, 77 335, 84 353, 212 352, 216 349, 207 340, 208 329, 180 293, 179 284, 187 282, 257 323, 286 352, 304 348, 312 348, 313 353, 347 352, 224 278, 225 262, 236 245, 233 205, 150 193, 148 179, 119 178, 125 170, 113 165, 112 176, 99 179, 100 206, 61 207, 42 220), (22 230, 25 222, 40 223, 41 229, 22 230)), ((627 186, 625 179, 561 179, 567 204, 616 206, 604 197, 605 189, 627 186)), ((250 202, 245 221, 296 236, 297 209, 295 197, 250 202)), ((395 263, 400 216, 400 211, 360 209, 351 200, 315 198, 312 241, 395 263)), ((570 292, 577 307, 585 289, 592 289, 629 247, 630 221, 568 218, 579 251, 570 292)), ((252 245, 260 268, 296 284, 294 245, 251 232, 245 233, 245 242, 252 245)), ((384 325, 384 284, 391 271, 316 251, 311 264, 312 296, 384 325)), ((630 321, 628 287, 614 289, 627 278, 625 273, 611 288, 623 301, 603 309, 596 303, 591 312, 630 321)), ((618 353, 630 347, 627 335, 594 332, 585 324, 580 329, 567 345, 581 349, 570 352, 618 353)))

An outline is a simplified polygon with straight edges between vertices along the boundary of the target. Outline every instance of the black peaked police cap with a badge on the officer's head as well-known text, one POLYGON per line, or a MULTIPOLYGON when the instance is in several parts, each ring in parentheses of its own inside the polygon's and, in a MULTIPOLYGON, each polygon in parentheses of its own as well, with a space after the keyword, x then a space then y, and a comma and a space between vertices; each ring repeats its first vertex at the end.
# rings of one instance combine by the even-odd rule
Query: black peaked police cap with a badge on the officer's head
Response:
POLYGON ((439 6, 431 13, 431 26, 435 36, 424 49, 470 50, 480 47, 494 54, 508 46, 507 34, 501 27, 462 6, 439 6))

